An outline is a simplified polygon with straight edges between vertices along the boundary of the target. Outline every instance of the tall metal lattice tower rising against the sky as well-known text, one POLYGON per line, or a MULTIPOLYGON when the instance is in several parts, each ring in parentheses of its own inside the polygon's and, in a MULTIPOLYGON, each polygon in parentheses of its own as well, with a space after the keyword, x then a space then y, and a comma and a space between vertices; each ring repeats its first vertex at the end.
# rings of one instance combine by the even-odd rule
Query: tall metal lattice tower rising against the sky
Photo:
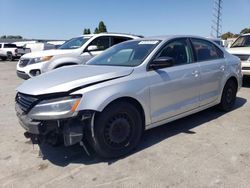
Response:
POLYGON ((222 0, 214 0, 213 18, 211 26, 211 37, 219 38, 221 36, 222 0))

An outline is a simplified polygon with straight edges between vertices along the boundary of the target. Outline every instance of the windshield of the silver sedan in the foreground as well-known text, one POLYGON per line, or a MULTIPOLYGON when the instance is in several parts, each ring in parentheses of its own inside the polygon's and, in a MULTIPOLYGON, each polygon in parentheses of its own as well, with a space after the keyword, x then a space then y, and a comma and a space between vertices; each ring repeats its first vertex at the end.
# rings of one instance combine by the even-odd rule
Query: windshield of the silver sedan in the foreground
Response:
POLYGON ((158 40, 128 41, 109 48, 93 58, 88 65, 134 67, 140 65, 157 46, 158 40))

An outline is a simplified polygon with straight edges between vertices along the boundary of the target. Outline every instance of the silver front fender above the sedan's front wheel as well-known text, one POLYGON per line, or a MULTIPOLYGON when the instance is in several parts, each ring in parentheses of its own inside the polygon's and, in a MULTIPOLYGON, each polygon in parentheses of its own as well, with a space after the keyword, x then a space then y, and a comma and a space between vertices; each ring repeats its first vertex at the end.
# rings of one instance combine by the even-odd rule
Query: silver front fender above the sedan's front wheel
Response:
POLYGON ((94 110, 101 112, 111 102, 119 98, 129 97, 136 100, 142 106, 145 114, 145 125, 150 124, 150 97, 147 82, 145 82, 145 79, 141 78, 138 80, 131 80, 131 82, 134 83, 128 84, 126 80, 126 77, 122 77, 86 87, 71 93, 72 95, 83 95, 77 110, 94 110))

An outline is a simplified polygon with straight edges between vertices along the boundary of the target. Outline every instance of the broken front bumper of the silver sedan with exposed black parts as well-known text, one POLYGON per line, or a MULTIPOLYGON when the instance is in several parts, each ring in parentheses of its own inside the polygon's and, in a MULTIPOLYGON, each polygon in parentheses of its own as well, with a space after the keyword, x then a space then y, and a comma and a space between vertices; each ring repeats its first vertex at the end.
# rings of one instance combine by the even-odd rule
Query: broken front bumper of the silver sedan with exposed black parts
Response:
POLYGON ((65 146, 71 146, 83 140, 92 117, 92 112, 86 111, 67 119, 34 120, 29 118, 18 104, 16 104, 16 114, 20 125, 26 130, 25 137, 30 138, 34 144, 64 143, 65 146))

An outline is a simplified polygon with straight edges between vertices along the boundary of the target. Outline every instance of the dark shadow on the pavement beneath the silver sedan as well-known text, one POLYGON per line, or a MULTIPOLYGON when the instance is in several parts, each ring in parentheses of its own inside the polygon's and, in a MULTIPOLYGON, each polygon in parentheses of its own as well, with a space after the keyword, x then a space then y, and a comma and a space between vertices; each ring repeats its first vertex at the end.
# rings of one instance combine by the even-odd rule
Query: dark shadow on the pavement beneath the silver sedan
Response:
MULTIPOLYGON (((246 99, 237 97, 236 104, 233 110, 242 107, 246 102, 246 99)), ((141 142, 139 143, 139 146, 127 156, 145 150, 148 147, 161 142, 162 140, 168 139, 180 133, 196 134, 194 131, 192 131, 193 128, 202 126, 204 125, 204 123, 221 117, 224 114, 224 112, 217 110, 216 107, 212 107, 202 112, 145 131, 144 135, 142 136, 141 142)), ((39 147, 41 157, 44 160, 49 160, 51 163, 58 166, 67 166, 71 163, 91 165, 100 162, 106 162, 107 164, 111 165, 116 161, 127 157, 124 156, 115 160, 103 160, 94 155, 91 150, 88 150, 91 155, 87 155, 83 147, 80 145, 74 145, 71 147, 53 147, 47 144, 43 144, 39 145, 39 147)))

